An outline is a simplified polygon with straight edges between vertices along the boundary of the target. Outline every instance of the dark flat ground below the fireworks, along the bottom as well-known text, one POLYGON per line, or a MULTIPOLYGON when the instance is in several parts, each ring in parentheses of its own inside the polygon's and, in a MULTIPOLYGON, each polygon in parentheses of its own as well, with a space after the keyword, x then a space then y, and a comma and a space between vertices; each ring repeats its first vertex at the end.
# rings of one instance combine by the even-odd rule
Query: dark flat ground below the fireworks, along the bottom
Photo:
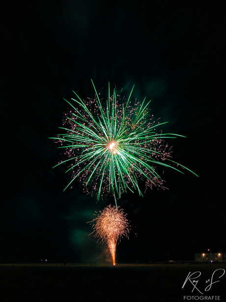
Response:
MULTIPOLYGON (((195 300, 199 300, 198 296, 220 296, 221 301, 226 301, 226 275, 205 291, 210 283, 206 281, 211 279, 213 272, 222 268, 225 269, 224 264, 121 264, 115 267, 110 264, 66 264, 65 267, 63 264, 0 265, 0 301, 188 301, 184 296, 195 296, 195 300), (201 272, 196 280, 203 295, 196 289, 192 292, 193 285, 189 281, 182 289, 189 272, 201 272)), ((213 282, 218 280, 218 273, 215 272, 213 282)))

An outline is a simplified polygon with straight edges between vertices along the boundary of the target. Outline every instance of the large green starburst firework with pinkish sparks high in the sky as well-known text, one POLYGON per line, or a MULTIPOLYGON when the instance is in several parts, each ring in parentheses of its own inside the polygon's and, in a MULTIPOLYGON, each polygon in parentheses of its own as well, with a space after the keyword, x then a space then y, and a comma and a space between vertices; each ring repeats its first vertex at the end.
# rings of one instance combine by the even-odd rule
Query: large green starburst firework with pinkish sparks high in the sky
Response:
POLYGON ((113 194, 116 204, 116 199, 127 190, 137 189, 142 195, 138 180, 145 180, 146 188, 162 186, 156 165, 177 171, 175 167, 185 168, 169 159, 171 151, 164 141, 182 135, 163 134, 160 130, 156 133, 155 128, 166 122, 153 121, 148 110, 150 101, 147 104, 145 99, 142 103, 135 101, 132 106, 133 89, 125 101, 116 90, 111 95, 109 86, 104 106, 95 87, 94 90, 95 98, 86 101, 73 91, 77 99, 72 99, 74 106, 67 101, 72 110, 65 113, 63 124, 67 127, 61 127, 66 133, 54 138, 61 143, 59 148, 65 149, 66 156, 57 165, 69 164, 66 172, 72 174, 67 187, 78 179, 87 193, 96 192, 97 200, 105 194, 113 194))

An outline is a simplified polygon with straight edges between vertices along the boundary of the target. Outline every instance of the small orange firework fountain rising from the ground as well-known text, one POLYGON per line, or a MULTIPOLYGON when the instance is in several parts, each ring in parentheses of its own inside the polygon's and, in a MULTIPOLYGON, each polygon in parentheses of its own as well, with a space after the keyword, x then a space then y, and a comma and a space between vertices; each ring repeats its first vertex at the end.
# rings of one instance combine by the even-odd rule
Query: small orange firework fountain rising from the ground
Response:
POLYGON ((130 225, 126 219, 126 214, 123 213, 122 209, 118 210, 115 206, 111 207, 110 205, 89 222, 93 223, 94 231, 91 234, 94 233, 95 238, 99 237, 101 242, 106 244, 112 256, 113 265, 115 265, 117 241, 123 236, 128 237, 129 233, 130 225))

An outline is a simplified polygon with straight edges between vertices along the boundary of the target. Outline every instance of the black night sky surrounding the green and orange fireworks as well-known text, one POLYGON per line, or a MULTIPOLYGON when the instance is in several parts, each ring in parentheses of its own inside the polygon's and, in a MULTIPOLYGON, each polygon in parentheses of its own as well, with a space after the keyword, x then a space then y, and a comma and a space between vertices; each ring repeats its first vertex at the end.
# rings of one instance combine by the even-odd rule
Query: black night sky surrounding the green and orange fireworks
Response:
MULTIPOLYGON (((55 137, 72 90, 103 97, 110 82, 128 97, 151 99, 155 119, 185 175, 165 169, 169 190, 123 195, 131 221, 117 261, 194 260, 226 252, 225 54, 222 7, 177 1, 34 1, 0 12, 1 201, 0 262, 40 259, 105 262, 87 224, 96 203, 63 167, 55 137), (135 235, 137 234, 137 235, 135 235)), ((160 174, 161 174, 160 169, 160 174)), ((141 185, 142 186, 142 185, 141 185)))

